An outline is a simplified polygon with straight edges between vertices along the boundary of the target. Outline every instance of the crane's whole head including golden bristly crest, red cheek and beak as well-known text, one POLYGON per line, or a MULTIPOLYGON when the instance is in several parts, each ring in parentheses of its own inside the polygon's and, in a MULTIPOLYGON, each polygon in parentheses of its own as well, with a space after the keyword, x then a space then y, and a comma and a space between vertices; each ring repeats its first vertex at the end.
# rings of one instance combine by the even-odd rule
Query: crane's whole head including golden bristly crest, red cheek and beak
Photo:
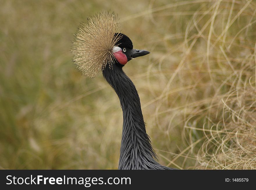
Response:
POLYGON ((102 12, 88 18, 88 23, 81 23, 72 47, 73 61, 78 70, 89 78, 94 78, 107 65, 124 66, 135 57, 147 55, 146 50, 133 48, 126 35, 117 33, 118 18, 114 13, 102 12))

